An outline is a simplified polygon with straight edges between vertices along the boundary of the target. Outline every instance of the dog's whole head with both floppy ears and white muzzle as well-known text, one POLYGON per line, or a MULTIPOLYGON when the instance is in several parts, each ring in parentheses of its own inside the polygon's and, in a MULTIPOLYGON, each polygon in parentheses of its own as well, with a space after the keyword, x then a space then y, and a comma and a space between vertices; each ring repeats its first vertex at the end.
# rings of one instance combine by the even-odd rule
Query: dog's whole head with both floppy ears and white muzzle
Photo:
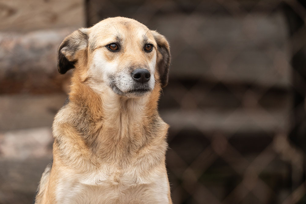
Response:
POLYGON ((136 20, 108 18, 66 37, 58 49, 58 71, 75 68, 96 91, 109 88, 126 97, 150 93, 168 83, 166 38, 136 20), (157 83, 157 85, 155 85, 157 83))

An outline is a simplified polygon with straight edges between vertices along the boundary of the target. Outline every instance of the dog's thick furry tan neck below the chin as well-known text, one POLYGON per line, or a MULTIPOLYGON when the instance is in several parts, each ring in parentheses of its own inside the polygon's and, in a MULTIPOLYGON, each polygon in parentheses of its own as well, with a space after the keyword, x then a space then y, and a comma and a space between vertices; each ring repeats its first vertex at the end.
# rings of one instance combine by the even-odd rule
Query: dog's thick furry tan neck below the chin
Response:
POLYGON ((127 162, 127 151, 132 154, 154 138, 165 137, 168 126, 157 112, 159 87, 141 98, 121 97, 111 89, 96 93, 80 82, 72 87, 69 99, 80 118, 72 126, 99 159, 127 162))

